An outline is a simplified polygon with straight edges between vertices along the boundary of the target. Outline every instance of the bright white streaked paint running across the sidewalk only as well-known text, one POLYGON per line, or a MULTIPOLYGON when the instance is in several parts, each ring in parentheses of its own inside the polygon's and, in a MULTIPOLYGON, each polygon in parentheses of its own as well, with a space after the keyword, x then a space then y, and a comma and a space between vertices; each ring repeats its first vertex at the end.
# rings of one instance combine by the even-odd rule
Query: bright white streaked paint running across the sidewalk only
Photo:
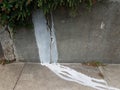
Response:
POLYGON ((52 70, 56 75, 67 81, 73 81, 97 90, 120 90, 114 87, 109 87, 107 82, 103 79, 89 77, 60 64, 45 64, 45 66, 52 70))

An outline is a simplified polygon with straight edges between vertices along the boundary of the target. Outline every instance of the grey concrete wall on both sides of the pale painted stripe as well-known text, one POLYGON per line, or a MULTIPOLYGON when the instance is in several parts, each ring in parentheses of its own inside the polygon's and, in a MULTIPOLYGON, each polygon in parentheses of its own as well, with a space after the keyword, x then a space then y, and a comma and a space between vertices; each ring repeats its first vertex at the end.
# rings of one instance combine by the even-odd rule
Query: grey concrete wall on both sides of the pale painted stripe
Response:
MULTIPOLYGON (((95 60, 120 63, 119 3, 99 3, 90 12, 81 6, 75 18, 71 18, 66 10, 57 10, 54 12, 54 24, 58 62, 95 60)), ((15 45, 19 60, 39 62, 34 30, 18 30, 15 45)))

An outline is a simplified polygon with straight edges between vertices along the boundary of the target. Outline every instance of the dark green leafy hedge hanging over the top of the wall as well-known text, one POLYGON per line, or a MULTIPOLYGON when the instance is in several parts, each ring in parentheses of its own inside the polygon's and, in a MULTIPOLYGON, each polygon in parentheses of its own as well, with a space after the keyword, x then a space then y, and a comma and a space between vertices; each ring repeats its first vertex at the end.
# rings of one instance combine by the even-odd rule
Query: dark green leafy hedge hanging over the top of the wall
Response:
MULTIPOLYGON (((87 7, 97 0, 0 0, 0 24, 10 27, 26 25, 31 20, 31 14, 35 9, 42 9, 45 14, 58 7, 67 7, 77 10, 79 5, 87 7)), ((72 13, 74 15, 74 13, 72 13)))

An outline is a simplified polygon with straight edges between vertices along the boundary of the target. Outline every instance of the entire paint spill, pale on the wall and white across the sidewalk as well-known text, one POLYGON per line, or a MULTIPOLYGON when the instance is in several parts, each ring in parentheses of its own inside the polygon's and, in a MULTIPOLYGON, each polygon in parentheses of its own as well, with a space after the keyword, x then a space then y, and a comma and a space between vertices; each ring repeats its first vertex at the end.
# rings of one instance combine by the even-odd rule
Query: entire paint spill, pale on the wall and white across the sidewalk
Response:
POLYGON ((114 87, 109 87, 104 80, 89 77, 69 67, 57 64, 58 53, 56 38, 54 33, 53 18, 51 19, 52 29, 50 31, 47 28, 46 19, 43 12, 41 10, 37 10, 33 13, 35 37, 39 50, 41 64, 48 67, 51 71, 53 71, 56 75, 64 80, 73 81, 81 85, 95 88, 97 90, 120 90, 114 87), (51 59, 52 64, 50 64, 51 59))

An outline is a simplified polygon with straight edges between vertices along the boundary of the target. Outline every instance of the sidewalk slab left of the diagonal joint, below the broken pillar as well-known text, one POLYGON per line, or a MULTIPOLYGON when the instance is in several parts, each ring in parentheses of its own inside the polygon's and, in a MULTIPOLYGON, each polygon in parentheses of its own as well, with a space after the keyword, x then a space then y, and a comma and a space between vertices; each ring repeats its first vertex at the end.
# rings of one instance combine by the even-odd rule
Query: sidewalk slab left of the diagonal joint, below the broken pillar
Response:
POLYGON ((24 63, 0 65, 0 90, 13 90, 24 63))

